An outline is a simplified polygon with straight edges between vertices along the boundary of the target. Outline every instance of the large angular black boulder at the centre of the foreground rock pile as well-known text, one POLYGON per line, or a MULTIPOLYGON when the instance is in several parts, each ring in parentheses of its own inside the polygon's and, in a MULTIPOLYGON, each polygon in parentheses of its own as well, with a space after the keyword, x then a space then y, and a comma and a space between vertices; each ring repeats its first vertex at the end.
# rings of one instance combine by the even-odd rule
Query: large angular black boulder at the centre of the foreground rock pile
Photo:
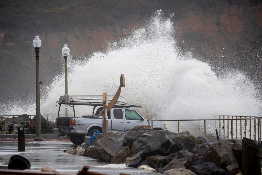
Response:
POLYGON ((156 131, 154 134, 152 134, 152 137, 145 146, 141 157, 143 160, 145 160, 146 157, 157 154, 166 156, 169 153, 170 146, 173 144, 174 142, 166 135, 164 131, 156 131))

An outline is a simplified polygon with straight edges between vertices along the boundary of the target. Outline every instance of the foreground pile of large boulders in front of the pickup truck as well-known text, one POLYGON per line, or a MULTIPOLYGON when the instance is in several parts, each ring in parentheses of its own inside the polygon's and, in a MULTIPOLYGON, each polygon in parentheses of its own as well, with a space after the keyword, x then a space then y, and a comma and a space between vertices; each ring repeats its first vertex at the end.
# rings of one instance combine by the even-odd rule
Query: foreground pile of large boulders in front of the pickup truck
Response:
POLYGON ((225 140, 213 144, 207 137, 196 138, 188 131, 136 126, 126 133, 102 134, 83 156, 164 174, 237 174, 240 170, 233 145, 225 140))

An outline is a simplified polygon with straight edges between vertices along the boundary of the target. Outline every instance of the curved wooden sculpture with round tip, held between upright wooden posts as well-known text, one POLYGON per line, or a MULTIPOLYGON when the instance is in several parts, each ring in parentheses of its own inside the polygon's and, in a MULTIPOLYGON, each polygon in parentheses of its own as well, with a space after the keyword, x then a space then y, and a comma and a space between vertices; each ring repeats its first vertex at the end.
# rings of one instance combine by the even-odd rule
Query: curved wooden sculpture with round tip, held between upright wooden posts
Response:
POLYGON ((103 133, 107 132, 107 126, 108 126, 107 125, 107 119, 106 119, 106 112, 110 111, 110 109, 113 108, 113 106, 116 104, 116 102, 117 102, 117 100, 120 96, 122 87, 125 87, 125 76, 124 76, 124 74, 121 74, 120 85, 117 89, 116 94, 114 95, 114 97, 112 98, 112 100, 110 101, 109 104, 107 102, 107 92, 103 93, 103 110, 95 116, 95 118, 96 118, 96 117, 103 115, 103 122, 102 122, 103 123, 103 133))

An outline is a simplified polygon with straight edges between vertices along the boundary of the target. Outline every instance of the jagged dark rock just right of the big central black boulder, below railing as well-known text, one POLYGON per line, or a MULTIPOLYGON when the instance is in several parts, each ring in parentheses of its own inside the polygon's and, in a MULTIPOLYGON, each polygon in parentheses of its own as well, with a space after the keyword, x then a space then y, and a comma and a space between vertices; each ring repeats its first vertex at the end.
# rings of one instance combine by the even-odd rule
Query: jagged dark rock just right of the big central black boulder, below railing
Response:
POLYGON ((186 150, 192 152, 192 148, 196 144, 202 144, 201 140, 196 139, 192 135, 178 135, 171 139, 174 144, 170 147, 170 152, 178 152, 180 150, 186 150))

